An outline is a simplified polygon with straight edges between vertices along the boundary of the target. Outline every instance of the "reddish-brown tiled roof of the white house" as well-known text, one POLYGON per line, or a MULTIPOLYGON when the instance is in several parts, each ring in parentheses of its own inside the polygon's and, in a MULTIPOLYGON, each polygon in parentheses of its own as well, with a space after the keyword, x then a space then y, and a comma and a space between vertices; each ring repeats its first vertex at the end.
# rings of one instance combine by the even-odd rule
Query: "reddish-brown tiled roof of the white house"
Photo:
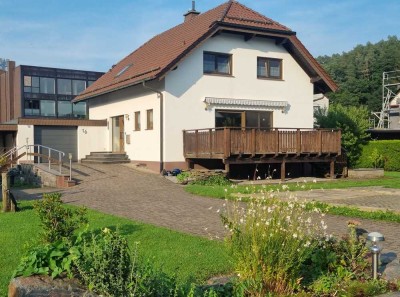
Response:
MULTIPOLYGON (((273 36, 295 37, 288 27, 260 13, 230 0, 172 29, 156 35, 137 50, 118 62, 115 67, 76 97, 73 102, 96 97, 114 90, 126 88, 145 80, 163 77, 168 71, 201 42, 218 30, 230 27, 231 31, 249 30, 273 36), (123 71, 126 69, 125 71, 123 71), (121 73, 122 72, 122 73, 121 73)), ((305 55, 311 67, 308 73, 318 73, 331 90, 336 85, 298 39, 290 38, 299 53, 305 55), (333 83, 333 84, 332 84, 333 83)))

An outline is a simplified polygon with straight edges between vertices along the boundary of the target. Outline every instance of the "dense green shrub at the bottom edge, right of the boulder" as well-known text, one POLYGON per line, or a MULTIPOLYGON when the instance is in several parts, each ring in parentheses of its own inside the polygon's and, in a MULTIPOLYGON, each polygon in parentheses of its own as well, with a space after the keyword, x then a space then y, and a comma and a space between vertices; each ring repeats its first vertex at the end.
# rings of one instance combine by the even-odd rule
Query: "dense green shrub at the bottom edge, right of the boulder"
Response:
POLYGON ((78 277, 85 285, 106 296, 180 296, 183 289, 175 278, 156 270, 149 261, 131 257, 122 236, 110 229, 83 237, 81 257, 75 261, 78 277))

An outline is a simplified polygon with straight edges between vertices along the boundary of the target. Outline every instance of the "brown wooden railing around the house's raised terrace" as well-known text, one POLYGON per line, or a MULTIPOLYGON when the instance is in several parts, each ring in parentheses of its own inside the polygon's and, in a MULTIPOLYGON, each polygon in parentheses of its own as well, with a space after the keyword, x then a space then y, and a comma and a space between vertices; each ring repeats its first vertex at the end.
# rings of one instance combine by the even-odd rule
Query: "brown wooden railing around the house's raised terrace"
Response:
POLYGON ((336 154, 341 151, 337 129, 211 128, 183 131, 185 158, 227 159, 248 155, 336 154))

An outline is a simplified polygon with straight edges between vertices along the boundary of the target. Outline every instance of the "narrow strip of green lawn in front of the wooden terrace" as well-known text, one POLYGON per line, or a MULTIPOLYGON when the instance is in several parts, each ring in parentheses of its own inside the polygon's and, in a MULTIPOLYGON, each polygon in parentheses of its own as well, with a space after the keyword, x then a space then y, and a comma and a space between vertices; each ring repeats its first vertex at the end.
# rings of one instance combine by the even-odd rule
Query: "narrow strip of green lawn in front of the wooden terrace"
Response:
MULTIPOLYGON (((383 178, 354 180, 354 179, 336 179, 327 182, 299 182, 299 183, 285 183, 288 186, 286 190, 289 191, 305 191, 311 189, 346 189, 352 187, 371 187, 382 186, 385 188, 400 188, 400 172, 385 172, 383 178)), ((250 194, 258 192, 261 189, 276 191, 282 189, 282 185, 269 184, 269 185, 237 185, 235 187, 229 186, 201 186, 201 185, 187 185, 185 190, 189 193, 213 197, 213 198, 233 198, 235 194, 250 194)))

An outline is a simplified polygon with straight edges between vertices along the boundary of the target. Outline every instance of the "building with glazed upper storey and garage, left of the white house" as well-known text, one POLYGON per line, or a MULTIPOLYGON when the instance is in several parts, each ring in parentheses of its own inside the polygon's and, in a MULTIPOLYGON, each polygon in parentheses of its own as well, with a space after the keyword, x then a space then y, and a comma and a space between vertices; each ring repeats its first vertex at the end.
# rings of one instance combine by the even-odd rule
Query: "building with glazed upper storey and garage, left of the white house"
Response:
MULTIPOLYGON (((14 61, 3 61, 0 151, 36 144, 66 153, 65 159, 69 153, 73 160, 88 154, 97 130, 107 123, 89 120, 86 103, 72 104, 71 100, 103 73, 28 65, 16 67, 14 61)), ((48 151, 41 153, 48 154, 48 151)), ((27 156, 22 160, 26 159, 27 156)))

